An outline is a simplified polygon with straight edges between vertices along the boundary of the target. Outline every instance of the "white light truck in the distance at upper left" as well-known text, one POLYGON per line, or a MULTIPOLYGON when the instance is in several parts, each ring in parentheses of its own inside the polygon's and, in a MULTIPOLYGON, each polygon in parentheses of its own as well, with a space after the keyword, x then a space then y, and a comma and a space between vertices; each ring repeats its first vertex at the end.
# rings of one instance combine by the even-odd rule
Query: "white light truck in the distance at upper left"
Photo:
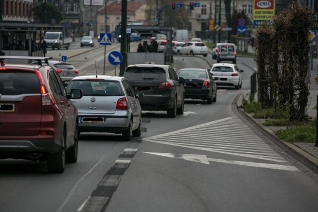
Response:
POLYGON ((63 36, 63 32, 53 31, 46 32, 44 35, 44 40, 48 45, 48 48, 52 48, 54 50, 57 48, 60 50, 61 48, 69 49, 72 43, 72 38, 67 38, 63 36))

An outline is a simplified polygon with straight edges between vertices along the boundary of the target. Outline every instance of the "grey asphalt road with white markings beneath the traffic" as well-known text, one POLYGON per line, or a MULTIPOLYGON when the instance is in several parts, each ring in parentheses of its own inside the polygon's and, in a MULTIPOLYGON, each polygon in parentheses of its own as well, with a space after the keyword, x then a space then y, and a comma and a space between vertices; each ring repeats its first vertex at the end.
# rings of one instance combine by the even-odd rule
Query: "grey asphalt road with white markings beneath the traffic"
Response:
MULTIPOLYGON (((119 50, 113 47, 106 54, 119 50)), ((69 62, 80 75, 94 74, 103 70, 103 53, 96 48, 69 62)), ((317 175, 233 110, 255 69, 252 58, 238 65, 242 89, 220 87, 212 105, 186 99, 176 118, 144 111, 140 138, 81 135, 79 160, 63 174, 48 174, 45 163, 0 160, 0 211, 316 212, 317 175)), ((177 57, 176 66, 210 68, 203 57, 177 57)))

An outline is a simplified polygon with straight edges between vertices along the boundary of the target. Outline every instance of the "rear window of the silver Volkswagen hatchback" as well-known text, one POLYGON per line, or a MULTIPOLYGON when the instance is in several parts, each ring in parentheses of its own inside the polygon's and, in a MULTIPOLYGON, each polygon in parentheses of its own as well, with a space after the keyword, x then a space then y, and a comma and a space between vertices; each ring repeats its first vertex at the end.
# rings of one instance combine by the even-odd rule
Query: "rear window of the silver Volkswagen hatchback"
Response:
POLYGON ((83 96, 123 96, 119 81, 108 80, 72 80, 67 86, 67 93, 79 88, 83 96))

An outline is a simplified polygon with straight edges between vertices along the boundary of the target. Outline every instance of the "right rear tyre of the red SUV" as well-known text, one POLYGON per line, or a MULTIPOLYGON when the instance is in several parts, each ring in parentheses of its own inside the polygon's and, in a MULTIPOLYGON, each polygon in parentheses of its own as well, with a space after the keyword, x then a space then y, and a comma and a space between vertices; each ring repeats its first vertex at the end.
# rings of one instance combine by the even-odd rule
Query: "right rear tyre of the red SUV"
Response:
POLYGON ((62 173, 65 169, 65 130, 62 131, 61 148, 57 153, 49 154, 47 167, 50 173, 62 173))

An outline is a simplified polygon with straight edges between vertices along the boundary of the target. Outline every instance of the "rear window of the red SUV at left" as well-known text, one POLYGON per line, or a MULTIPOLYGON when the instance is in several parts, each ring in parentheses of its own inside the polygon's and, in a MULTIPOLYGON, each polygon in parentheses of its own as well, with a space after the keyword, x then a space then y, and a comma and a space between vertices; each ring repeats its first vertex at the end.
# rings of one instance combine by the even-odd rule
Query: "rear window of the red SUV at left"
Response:
POLYGON ((1 72, 0 94, 20 95, 40 93, 40 83, 34 72, 1 72))

